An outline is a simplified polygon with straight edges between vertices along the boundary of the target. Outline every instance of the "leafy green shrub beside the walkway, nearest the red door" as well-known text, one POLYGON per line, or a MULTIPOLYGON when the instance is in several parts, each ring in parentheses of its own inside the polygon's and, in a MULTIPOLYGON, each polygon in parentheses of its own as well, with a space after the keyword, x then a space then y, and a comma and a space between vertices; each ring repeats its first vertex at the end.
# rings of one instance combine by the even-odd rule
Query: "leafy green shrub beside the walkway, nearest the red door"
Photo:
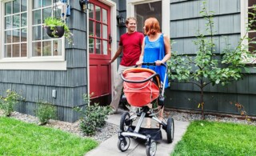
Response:
MULTIPOLYGON (((90 103, 90 95, 83 94, 85 102, 90 103)), ((94 135, 96 130, 99 130, 106 124, 106 115, 110 114, 109 106, 87 105, 85 108, 76 107, 74 110, 82 114, 80 128, 86 135, 94 135)))

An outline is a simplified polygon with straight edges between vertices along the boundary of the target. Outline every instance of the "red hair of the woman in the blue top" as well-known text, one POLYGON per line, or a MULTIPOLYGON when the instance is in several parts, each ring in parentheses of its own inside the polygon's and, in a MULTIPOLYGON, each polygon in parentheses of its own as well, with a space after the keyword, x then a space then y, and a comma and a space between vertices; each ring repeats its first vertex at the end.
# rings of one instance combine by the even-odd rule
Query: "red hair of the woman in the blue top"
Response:
POLYGON ((160 26, 157 18, 147 18, 145 21, 145 34, 157 34, 160 32, 160 26))

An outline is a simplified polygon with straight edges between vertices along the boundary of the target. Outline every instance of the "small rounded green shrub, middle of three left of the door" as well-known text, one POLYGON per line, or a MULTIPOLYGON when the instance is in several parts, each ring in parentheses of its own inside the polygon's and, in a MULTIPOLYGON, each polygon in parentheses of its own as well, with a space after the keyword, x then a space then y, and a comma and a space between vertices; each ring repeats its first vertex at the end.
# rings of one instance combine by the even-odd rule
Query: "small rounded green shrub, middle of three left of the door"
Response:
POLYGON ((50 102, 37 102, 38 108, 36 110, 36 116, 39 120, 39 125, 45 125, 50 119, 56 118, 56 106, 53 106, 50 102))

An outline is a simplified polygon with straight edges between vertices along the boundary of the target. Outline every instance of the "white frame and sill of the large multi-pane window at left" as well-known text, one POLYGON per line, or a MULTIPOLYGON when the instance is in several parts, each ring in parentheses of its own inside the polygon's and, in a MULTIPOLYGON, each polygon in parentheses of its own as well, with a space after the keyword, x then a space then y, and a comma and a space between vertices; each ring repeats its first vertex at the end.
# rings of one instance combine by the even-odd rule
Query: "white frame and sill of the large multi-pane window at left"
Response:
POLYGON ((0 70, 66 70, 65 38, 62 37, 62 55, 32 57, 32 2, 28 0, 27 12, 27 56, 24 58, 4 58, 4 9, 5 3, 12 0, 0 0, 0 70))

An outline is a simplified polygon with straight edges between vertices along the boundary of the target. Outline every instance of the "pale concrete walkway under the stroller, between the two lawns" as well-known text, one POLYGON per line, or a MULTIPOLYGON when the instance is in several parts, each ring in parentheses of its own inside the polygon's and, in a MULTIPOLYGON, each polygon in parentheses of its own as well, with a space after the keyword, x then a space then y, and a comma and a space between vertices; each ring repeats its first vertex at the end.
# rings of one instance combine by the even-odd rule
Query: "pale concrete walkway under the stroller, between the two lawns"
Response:
MULTIPOLYGON (((107 122, 116 124, 119 126, 120 118, 122 111, 119 111, 118 114, 113 114, 108 116, 107 122)), ((138 121, 138 118, 137 120, 138 121)), ((152 122, 152 125, 156 123, 152 122)), ((189 122, 178 122, 174 120, 174 142, 168 144, 166 138, 166 131, 162 130, 162 140, 158 142, 156 155, 161 156, 170 156, 170 153, 174 150, 174 146, 178 141, 182 139, 182 135, 185 134, 189 122)), ((136 122, 133 124, 136 125, 136 122)), ((115 134, 111 138, 107 139, 105 142, 102 142, 97 148, 91 150, 86 156, 145 156, 146 155, 146 146, 142 142, 138 142, 133 138, 130 138, 130 147, 125 152, 118 150, 118 134, 115 134)))

